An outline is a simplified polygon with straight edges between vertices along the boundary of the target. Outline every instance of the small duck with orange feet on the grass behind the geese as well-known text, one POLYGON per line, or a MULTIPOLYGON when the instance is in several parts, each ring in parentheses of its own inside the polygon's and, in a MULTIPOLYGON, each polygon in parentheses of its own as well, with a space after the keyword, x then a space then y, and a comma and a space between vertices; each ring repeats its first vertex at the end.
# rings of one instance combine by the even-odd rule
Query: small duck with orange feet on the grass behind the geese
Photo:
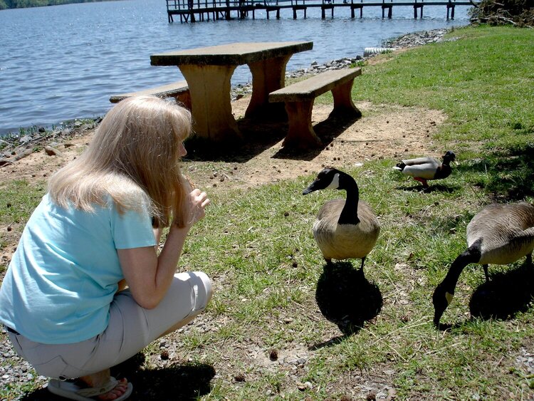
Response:
POLYGON ((434 159, 434 157, 418 157, 417 159, 402 160, 393 167, 402 174, 414 177, 416 181, 428 188, 427 180, 442 179, 451 175, 451 162, 454 162, 456 155, 451 150, 447 151, 442 157, 443 162, 434 159))

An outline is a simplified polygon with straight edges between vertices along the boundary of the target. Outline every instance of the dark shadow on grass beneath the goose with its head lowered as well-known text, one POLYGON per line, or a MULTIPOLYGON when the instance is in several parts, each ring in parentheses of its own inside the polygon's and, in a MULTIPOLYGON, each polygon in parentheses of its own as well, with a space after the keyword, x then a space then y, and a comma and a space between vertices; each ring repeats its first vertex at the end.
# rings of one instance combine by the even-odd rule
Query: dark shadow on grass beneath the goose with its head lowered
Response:
MULTIPOLYGON (((490 281, 484 281, 469 299, 468 321, 482 319, 511 320, 519 312, 533 306, 534 268, 524 263, 517 269, 490 274, 490 281)), ((466 322, 440 323, 439 330, 461 328, 466 322)))

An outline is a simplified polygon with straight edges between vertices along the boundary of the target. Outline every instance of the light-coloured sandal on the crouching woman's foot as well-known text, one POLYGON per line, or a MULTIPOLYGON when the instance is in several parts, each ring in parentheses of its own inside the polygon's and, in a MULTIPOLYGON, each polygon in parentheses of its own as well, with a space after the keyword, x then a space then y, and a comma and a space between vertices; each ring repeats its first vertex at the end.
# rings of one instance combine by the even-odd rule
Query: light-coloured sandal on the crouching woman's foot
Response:
MULTIPOLYGON (((110 392, 117 387, 119 382, 115 377, 110 377, 110 380, 100 387, 86 387, 80 386, 77 382, 63 381, 57 379, 51 379, 48 382, 48 391, 52 394, 59 395, 60 397, 68 398, 69 400, 77 401, 95 401, 96 396, 110 392)), ((132 383, 128 383, 126 391, 120 397, 115 398, 113 401, 126 400, 132 394, 132 383)))

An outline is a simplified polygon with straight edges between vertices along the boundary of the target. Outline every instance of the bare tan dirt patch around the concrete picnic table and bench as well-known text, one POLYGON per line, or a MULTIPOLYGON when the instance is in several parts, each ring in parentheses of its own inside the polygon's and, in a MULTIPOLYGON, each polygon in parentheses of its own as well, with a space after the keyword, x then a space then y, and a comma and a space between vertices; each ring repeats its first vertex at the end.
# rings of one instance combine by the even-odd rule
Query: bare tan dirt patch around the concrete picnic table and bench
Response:
MULTIPOLYGON (((247 105, 248 98, 232 103, 236 118, 244 115, 247 105)), ((369 160, 442 155, 444 150, 436 148, 431 140, 437 126, 446 118, 440 111, 372 103, 357 103, 357 108, 362 111, 362 118, 340 122, 328 119, 332 111, 330 105, 315 105, 313 125, 325 146, 310 152, 286 152, 283 149, 285 124, 258 125, 241 118, 239 127, 246 139, 244 145, 225 155, 209 155, 207 160, 202 160, 201 152, 189 150, 184 160, 184 173, 197 186, 214 191, 221 187, 226 190, 293 179, 318 172, 325 165, 346 168, 369 160), (217 174, 214 176, 213 172, 217 174), (214 178, 218 178, 215 186, 214 178)), ((41 150, 0 167, 0 181, 14 178, 30 182, 46 180, 78 156, 92 135, 90 130, 56 145, 61 152, 59 155, 48 155, 41 150)))

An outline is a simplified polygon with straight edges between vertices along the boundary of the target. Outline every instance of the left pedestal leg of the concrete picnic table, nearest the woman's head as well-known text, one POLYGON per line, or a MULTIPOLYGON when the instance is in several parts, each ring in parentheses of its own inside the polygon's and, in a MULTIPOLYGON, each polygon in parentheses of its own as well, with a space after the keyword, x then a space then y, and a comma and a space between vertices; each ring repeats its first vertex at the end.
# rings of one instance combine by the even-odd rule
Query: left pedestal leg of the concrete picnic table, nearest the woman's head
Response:
POLYGON ((179 69, 191 94, 194 134, 218 142, 239 137, 230 102, 230 78, 236 66, 182 64, 179 69))

